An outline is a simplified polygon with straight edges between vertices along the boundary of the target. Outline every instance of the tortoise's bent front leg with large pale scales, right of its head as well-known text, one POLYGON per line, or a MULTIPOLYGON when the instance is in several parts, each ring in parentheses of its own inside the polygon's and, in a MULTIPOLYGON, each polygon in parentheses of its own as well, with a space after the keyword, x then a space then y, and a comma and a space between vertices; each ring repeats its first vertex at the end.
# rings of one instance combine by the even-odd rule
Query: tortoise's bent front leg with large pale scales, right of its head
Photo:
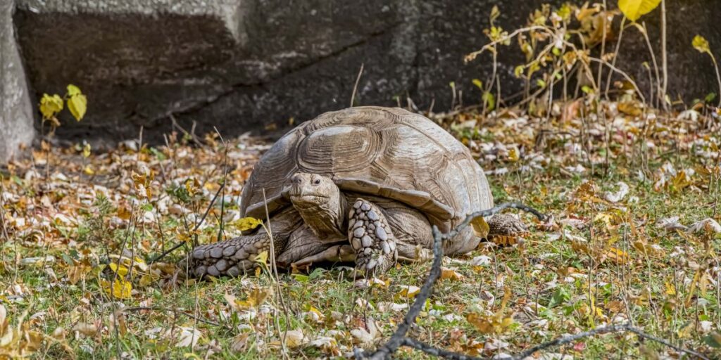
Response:
POLYGON ((398 258, 386 217, 372 202, 358 199, 348 215, 348 240, 355 251, 355 266, 366 273, 382 273, 398 258))

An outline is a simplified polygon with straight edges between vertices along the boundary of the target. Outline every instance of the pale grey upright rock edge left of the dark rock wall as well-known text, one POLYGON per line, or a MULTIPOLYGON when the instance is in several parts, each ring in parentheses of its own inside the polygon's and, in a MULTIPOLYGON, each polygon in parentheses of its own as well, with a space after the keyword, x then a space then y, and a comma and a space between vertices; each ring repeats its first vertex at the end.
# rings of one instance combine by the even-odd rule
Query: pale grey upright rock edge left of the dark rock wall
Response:
POLYGON ((0 162, 35 135, 30 94, 12 26, 13 1, 0 1, 0 162))

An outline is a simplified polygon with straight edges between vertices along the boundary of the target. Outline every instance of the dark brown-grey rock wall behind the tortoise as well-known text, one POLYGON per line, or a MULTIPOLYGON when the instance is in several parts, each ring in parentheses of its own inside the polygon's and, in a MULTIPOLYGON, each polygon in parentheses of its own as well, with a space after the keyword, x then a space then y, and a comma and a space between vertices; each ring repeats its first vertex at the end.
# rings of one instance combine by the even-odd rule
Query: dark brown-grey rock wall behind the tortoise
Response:
MULTIPOLYGON (((500 6, 497 23, 513 30, 542 3, 562 1, 16 2, 30 104, 43 92, 80 86, 89 99, 87 116, 75 122, 63 114, 58 136, 102 143, 137 138, 141 126, 143 139, 155 142, 180 128, 203 134, 217 127, 223 135, 282 130, 292 117, 298 122, 348 107, 361 64, 356 104, 405 104, 410 96, 420 109, 434 103, 436 112, 446 111, 451 81, 464 104, 476 104, 480 93, 471 80, 485 81, 492 62, 488 54, 469 64, 463 57, 487 43, 482 30, 492 5, 500 6)), ((706 36, 721 57, 715 25, 721 6, 715 0, 668 3, 669 93, 691 99, 717 91, 712 64, 691 48, 691 37, 706 36)), ((658 10, 642 17, 658 61, 659 17, 658 10)), ((635 30, 624 36, 619 67, 648 89, 645 42, 635 30)), ((523 55, 514 45, 499 60, 507 97, 523 89, 513 76, 523 55)))

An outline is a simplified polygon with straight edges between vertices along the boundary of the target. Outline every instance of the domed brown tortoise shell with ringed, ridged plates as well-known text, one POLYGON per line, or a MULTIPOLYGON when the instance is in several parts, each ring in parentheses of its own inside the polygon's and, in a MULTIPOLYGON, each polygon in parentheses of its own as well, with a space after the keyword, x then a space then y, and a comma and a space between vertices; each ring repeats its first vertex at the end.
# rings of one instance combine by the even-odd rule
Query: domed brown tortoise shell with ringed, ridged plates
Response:
POLYGON ((343 192, 415 207, 442 231, 493 206, 468 148, 427 117, 399 108, 351 107, 298 125, 255 166, 242 216, 265 218, 266 204, 270 215, 288 206, 283 189, 299 171, 328 176, 343 192))

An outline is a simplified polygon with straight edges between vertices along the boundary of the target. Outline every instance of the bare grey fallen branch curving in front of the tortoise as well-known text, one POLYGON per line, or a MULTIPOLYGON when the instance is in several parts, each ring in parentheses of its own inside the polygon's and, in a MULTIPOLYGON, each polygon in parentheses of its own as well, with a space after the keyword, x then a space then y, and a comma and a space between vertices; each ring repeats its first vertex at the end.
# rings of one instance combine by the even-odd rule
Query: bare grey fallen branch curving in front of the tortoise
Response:
MULTIPOLYGON (((406 336, 406 333, 410 329, 411 325, 415 323, 415 319, 417 318, 420 311, 423 309, 423 305, 425 305, 426 300, 428 300, 428 297, 430 297, 430 293, 433 291, 433 285, 438 280, 438 277, 441 276, 441 261, 443 260, 443 241, 447 240, 449 238, 453 238, 455 235, 457 235, 461 230, 464 230, 470 222, 472 222, 477 217, 488 217, 491 215, 495 215, 505 209, 518 209, 523 210, 525 212, 531 212, 533 215, 539 218, 541 221, 547 220, 547 215, 541 214, 538 210, 535 210, 532 207, 528 207, 523 204, 519 204, 516 202, 505 202, 503 204, 499 204, 496 207, 492 207, 488 210, 482 210, 478 212, 474 212, 466 219, 461 222, 456 228, 451 229, 451 231, 448 231, 448 233, 441 233, 438 228, 433 226, 433 264, 430 266, 430 272, 428 273, 428 277, 425 279, 425 282, 423 283, 423 287, 421 287, 420 292, 415 297, 415 301, 413 302, 413 305, 411 305, 410 309, 406 313, 402 323, 398 325, 398 328, 394 331, 393 335, 389 340, 384 343, 383 345, 379 346, 379 348, 376 349, 375 352, 372 354, 364 354, 363 351, 360 348, 355 348, 355 359, 372 359, 372 360, 382 360, 382 359, 388 359, 392 354, 394 354, 399 347, 401 346, 408 346, 411 348, 416 348, 417 350, 423 351, 426 354, 430 354, 433 356, 438 356, 444 359, 454 359, 454 360, 481 360, 485 358, 481 357, 475 357, 475 356, 469 356, 466 354, 459 354, 454 351, 448 351, 444 350, 443 348, 436 348, 435 346, 432 346, 428 343, 424 343, 423 341, 418 341, 412 338, 408 338, 406 336)), ((552 346, 561 346, 565 345, 567 343, 572 343, 573 341, 578 341, 580 338, 586 338, 589 336, 595 336, 603 333, 616 333, 619 331, 630 331, 632 333, 635 333, 637 336, 641 338, 645 338, 651 341, 655 341, 658 343, 662 343, 665 346, 668 346, 670 348, 673 348, 674 350, 686 353, 692 356, 696 356, 698 359, 704 359, 708 360, 706 356, 703 354, 699 354, 696 351, 688 350, 685 348, 680 348, 676 345, 673 345, 672 343, 669 343, 668 341, 665 341, 661 338, 657 338, 655 336, 651 336, 647 333, 644 333, 642 330, 638 328, 634 328, 629 323, 623 323, 623 324, 612 324, 607 326, 602 326, 599 328, 595 328, 593 330, 588 330, 583 333, 578 333, 571 336, 562 336, 560 338, 555 338, 552 341, 547 341, 546 343, 541 343, 539 345, 533 346, 531 348, 526 349, 526 351, 523 351, 519 354, 516 354, 511 359, 513 360, 520 360, 525 359, 528 356, 531 356, 531 354, 534 354, 536 351, 541 351, 546 348, 550 348, 552 346)))

